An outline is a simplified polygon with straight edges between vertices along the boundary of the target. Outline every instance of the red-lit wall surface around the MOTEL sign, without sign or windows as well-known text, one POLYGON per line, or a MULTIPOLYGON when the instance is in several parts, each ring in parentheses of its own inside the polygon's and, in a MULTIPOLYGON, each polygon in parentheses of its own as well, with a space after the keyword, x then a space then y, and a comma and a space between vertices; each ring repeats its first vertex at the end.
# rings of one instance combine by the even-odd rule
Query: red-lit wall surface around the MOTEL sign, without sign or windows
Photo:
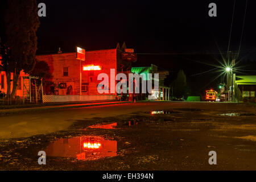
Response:
MULTIPOLYGON (((52 73, 52 82, 56 85, 61 82, 67 83, 72 86, 72 93, 67 92, 65 89, 57 89, 56 94, 80 94, 80 61, 76 59, 76 53, 60 53, 53 55, 39 55, 36 56, 37 60, 46 61, 49 65, 50 72, 52 73), (64 76, 63 69, 68 67, 68 76, 64 76)), ((97 85, 101 81, 97 81, 97 76, 100 73, 106 73, 110 79, 110 69, 117 69, 117 49, 104 49, 98 51, 86 51, 85 61, 81 65, 100 65, 101 71, 82 71, 82 83, 88 84, 88 92, 83 92, 85 95, 98 95, 97 85)), ((116 74, 116 72, 115 72, 116 74)), ((48 94, 48 93, 47 93, 48 94)), ((52 93, 53 94, 53 93, 52 93)), ((110 90, 109 90, 110 94, 110 90)))

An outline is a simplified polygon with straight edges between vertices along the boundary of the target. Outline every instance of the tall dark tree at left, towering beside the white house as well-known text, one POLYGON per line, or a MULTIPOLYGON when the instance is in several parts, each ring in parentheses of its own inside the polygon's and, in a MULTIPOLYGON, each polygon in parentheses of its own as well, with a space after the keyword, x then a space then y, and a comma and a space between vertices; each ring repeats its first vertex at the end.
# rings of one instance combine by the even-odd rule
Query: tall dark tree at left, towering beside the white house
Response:
POLYGON ((9 0, 5 1, 4 6, 2 26, 5 32, 1 32, 1 67, 6 72, 7 95, 13 97, 20 71, 30 73, 35 64, 36 31, 39 27, 38 7, 36 0, 9 0))

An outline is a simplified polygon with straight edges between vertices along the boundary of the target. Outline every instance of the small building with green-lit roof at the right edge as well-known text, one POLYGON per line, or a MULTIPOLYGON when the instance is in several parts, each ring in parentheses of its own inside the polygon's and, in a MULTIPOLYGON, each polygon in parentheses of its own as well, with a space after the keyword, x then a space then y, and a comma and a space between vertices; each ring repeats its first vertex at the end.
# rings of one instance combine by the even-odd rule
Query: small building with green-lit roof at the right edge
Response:
POLYGON ((256 102, 256 75, 236 75, 234 96, 238 102, 256 102))

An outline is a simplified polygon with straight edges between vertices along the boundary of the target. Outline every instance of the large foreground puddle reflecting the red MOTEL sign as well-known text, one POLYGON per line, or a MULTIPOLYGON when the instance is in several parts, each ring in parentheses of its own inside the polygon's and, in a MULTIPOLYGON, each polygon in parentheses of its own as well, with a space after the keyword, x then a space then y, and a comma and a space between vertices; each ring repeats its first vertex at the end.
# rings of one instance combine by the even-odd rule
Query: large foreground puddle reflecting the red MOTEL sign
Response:
POLYGON ((96 136, 61 138, 49 144, 45 151, 52 157, 97 160, 117 156, 117 141, 96 136))

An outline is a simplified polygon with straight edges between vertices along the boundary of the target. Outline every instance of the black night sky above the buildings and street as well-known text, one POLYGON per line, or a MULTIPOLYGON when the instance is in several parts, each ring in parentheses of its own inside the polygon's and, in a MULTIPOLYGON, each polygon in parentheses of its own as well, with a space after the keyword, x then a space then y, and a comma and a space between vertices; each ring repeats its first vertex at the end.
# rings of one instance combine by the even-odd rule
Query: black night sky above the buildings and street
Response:
MULTIPOLYGON (((225 1, 59 1, 40 0, 47 7, 47 16, 40 18, 38 54, 75 52, 76 46, 86 50, 115 48, 125 42, 134 48, 138 61, 134 66, 158 65, 170 71, 169 85, 183 69, 192 94, 217 88, 220 72, 197 73, 220 65, 216 54, 228 49, 233 0, 225 1), (208 5, 217 4, 217 17, 209 17, 208 5), (211 55, 187 55, 191 52, 213 52, 211 55), (144 55, 142 53, 148 53, 144 55), (157 54, 154 54, 157 53, 157 54), (168 55, 168 53, 179 53, 168 55), (186 54, 180 54, 186 53, 186 54), (196 62, 197 61, 197 62, 196 62)), ((230 50, 237 51, 240 43, 245 0, 236 1, 230 50)), ((248 1, 245 29, 238 66, 256 70, 256 2, 248 1)), ((222 61, 223 62, 223 61, 222 61)), ((243 71, 238 75, 255 75, 243 71)))

